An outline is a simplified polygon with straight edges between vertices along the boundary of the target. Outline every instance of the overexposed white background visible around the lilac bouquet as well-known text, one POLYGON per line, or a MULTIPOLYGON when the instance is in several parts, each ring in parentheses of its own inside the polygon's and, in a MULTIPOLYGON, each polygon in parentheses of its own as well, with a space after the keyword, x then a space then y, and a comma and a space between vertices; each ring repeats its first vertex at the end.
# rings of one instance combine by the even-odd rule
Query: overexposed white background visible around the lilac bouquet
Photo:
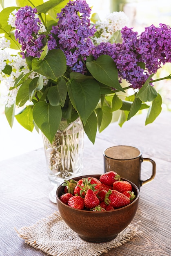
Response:
MULTIPOLYGON (((87 0, 87 3, 92 7, 92 13, 97 12, 101 20, 112 11, 123 10, 130 19, 130 26, 138 32, 151 24, 158 26, 159 23, 165 23, 171 26, 171 3, 168 0, 87 0)), ((4 5, 16 6, 16 1, 4 0, 4 5)), ((162 76, 168 75, 169 70, 171 65, 166 66, 162 76)), ((171 110, 171 81, 158 83, 158 90, 166 103, 163 108, 171 110)), ((16 120, 11 129, 4 116, 4 106, 0 104, 0 161, 42 146, 42 137, 35 130, 33 133, 25 130, 16 120)))

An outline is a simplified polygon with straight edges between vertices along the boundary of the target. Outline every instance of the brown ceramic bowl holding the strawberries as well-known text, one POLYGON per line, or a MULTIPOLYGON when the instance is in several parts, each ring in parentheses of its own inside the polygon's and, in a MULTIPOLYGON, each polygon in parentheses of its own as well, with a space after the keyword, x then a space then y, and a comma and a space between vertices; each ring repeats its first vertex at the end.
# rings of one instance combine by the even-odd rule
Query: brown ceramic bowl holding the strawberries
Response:
MULTIPOLYGON (((73 178, 73 180, 78 181, 82 177, 95 177, 99 179, 100 175, 80 176, 73 178)), ((57 206, 60 215, 64 222, 83 240, 92 243, 113 240, 118 233, 129 225, 138 208, 139 190, 132 182, 130 183, 136 195, 135 200, 131 204, 113 211, 100 212, 74 209, 64 204, 59 199, 62 192, 64 192, 64 186, 60 185, 56 191, 57 206)))

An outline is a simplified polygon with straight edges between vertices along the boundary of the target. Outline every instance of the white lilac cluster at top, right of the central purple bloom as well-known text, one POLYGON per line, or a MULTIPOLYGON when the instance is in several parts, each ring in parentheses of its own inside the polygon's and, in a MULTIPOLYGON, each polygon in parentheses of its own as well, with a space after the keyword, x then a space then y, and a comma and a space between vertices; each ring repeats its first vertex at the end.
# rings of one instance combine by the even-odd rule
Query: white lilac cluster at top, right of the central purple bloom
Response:
POLYGON ((122 27, 125 27, 128 24, 129 18, 123 11, 114 11, 113 13, 110 13, 104 20, 96 22, 97 32, 93 37, 94 43, 100 44, 102 42, 111 42, 111 40, 115 40, 115 32, 120 31, 122 27))

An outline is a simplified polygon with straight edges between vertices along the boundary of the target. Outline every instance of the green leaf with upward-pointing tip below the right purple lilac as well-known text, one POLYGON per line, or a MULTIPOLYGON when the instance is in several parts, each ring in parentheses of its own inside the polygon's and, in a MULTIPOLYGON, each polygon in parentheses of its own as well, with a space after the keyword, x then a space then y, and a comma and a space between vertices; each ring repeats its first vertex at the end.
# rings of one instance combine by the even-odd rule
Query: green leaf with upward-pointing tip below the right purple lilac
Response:
POLYGON ((158 93, 156 92, 155 88, 149 84, 151 77, 147 79, 147 81, 144 83, 142 88, 139 90, 139 92, 136 94, 136 98, 139 98, 141 101, 153 101, 155 97, 157 97, 158 93))

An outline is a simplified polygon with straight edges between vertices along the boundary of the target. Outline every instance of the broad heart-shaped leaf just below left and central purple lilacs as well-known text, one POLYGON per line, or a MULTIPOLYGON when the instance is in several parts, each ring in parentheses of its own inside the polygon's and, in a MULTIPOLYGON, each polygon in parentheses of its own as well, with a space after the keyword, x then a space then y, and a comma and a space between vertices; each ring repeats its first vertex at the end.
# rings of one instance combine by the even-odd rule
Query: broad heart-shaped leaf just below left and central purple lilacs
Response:
POLYGON ((56 81, 67 70, 66 57, 62 50, 53 49, 41 61, 39 58, 33 58, 32 68, 33 71, 56 81))

